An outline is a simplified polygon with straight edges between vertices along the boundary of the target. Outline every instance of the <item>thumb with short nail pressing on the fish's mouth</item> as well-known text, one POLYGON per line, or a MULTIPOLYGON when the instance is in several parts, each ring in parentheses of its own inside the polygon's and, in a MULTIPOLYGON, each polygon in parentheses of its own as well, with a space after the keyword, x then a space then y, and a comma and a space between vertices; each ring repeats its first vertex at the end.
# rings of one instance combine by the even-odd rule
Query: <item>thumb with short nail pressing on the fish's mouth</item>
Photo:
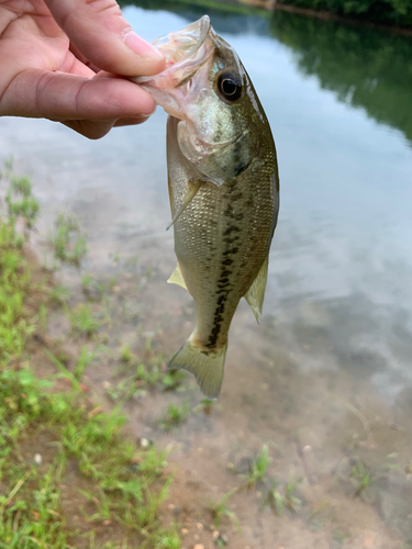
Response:
POLYGON ((156 75, 165 59, 135 34, 115 0, 45 0, 57 24, 89 61, 123 76, 156 75))

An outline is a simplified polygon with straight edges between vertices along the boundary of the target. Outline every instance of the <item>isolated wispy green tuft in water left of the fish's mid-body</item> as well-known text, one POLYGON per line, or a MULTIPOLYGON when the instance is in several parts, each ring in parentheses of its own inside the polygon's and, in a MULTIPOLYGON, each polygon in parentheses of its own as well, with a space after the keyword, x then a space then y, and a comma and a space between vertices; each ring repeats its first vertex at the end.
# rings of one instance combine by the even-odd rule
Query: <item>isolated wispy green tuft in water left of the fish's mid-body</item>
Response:
POLYGON ((87 255, 87 245, 74 215, 64 213, 57 215, 52 245, 56 259, 63 264, 80 266, 87 255))

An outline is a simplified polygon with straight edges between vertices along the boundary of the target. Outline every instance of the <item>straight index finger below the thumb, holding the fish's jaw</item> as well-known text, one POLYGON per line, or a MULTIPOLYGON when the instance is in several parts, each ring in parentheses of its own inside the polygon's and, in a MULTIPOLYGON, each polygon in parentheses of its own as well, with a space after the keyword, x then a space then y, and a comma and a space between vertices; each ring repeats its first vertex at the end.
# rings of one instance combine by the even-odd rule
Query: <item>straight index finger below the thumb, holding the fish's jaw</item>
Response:
POLYGON ((129 80, 32 69, 22 71, 9 86, 0 115, 102 122, 149 116, 155 108, 151 96, 129 80))

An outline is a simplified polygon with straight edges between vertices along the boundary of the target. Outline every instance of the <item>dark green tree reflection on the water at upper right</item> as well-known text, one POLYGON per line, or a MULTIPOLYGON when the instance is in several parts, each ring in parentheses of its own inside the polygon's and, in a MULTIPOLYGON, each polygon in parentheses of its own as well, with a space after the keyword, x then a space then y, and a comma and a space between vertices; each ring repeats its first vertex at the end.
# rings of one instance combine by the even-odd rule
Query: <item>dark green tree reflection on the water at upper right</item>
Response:
POLYGON ((276 13, 270 33, 339 101, 400 130, 412 145, 412 40, 366 27, 276 13))

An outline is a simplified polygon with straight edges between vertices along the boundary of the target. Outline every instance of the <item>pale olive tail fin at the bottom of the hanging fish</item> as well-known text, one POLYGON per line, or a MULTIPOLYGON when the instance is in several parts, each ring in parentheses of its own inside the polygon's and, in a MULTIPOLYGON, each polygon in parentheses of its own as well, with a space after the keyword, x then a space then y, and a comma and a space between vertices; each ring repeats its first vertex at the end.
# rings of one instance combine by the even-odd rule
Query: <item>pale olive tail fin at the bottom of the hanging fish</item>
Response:
POLYGON ((219 350, 194 347, 190 339, 171 358, 168 369, 191 372, 208 399, 218 399, 223 381, 224 358, 227 344, 219 350))

